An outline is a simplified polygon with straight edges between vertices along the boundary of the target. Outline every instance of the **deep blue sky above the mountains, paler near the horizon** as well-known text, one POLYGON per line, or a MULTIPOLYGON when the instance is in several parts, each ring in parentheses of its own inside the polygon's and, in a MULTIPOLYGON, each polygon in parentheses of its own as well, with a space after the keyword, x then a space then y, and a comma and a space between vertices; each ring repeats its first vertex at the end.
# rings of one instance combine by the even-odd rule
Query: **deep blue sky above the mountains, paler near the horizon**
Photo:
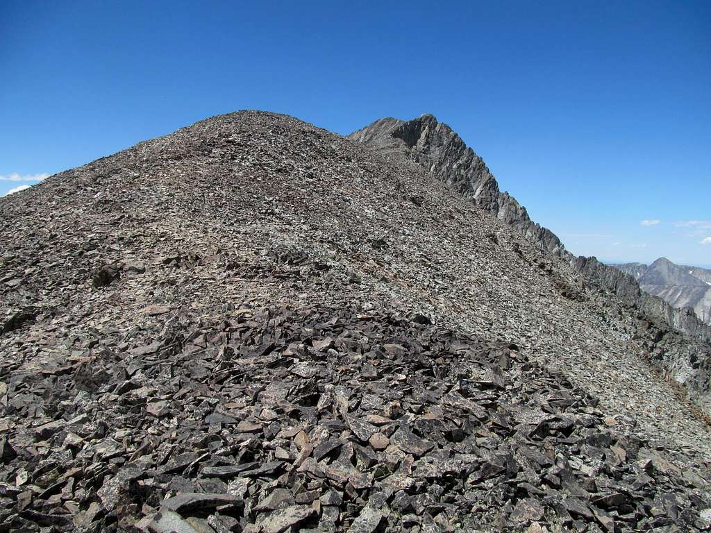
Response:
POLYGON ((711 2, 440 4, 2 1, 0 195, 235 109, 430 112, 572 252, 711 264, 711 2))

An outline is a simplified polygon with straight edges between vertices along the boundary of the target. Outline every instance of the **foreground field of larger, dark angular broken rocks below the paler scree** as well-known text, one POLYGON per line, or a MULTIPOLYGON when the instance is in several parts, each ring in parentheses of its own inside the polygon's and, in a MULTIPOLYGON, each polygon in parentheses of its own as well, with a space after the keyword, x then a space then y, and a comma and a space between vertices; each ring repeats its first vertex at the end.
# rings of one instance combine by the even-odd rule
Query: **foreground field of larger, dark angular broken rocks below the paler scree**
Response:
POLYGON ((85 532, 706 527, 708 463, 666 460, 516 345, 422 322, 179 313, 150 350, 15 373, 0 517, 85 532))

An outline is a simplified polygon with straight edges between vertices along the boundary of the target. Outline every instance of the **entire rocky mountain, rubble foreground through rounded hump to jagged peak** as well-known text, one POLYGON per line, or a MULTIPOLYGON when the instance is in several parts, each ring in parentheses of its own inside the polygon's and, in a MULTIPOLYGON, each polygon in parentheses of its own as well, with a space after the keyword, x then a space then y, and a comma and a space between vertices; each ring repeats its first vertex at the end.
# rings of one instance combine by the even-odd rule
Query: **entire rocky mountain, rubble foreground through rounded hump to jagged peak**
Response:
POLYGON ((213 117, 0 216, 1 531, 711 527, 706 330, 431 115, 213 117))

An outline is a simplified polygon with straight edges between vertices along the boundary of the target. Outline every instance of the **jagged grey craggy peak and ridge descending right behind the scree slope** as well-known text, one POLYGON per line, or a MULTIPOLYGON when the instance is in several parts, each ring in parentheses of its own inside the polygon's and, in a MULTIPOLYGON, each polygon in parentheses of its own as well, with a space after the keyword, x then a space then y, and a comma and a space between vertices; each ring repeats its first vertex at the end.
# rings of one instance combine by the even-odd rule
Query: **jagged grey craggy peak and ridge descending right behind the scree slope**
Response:
POLYGON ((350 138, 389 157, 415 161, 529 242, 560 256, 584 276, 589 286, 611 293, 612 300, 634 309, 643 343, 641 356, 660 365, 665 377, 683 384, 697 403, 710 409, 711 327, 689 309, 676 309, 641 291, 632 276, 594 257, 573 257, 550 230, 536 224, 508 193, 502 193, 483 160, 447 124, 430 114, 410 121, 381 119, 350 138), (681 335, 678 335, 680 332, 681 335))

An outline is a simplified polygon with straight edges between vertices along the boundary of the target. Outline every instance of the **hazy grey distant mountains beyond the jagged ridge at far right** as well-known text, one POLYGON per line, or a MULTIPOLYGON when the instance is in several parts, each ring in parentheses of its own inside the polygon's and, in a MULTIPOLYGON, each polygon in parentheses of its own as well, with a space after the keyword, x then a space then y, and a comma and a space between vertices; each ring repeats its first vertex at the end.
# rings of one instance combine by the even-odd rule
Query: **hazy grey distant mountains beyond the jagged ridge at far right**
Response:
POLYGON ((711 270, 675 264, 660 257, 651 265, 613 265, 637 280, 648 294, 659 296, 675 308, 691 307, 705 323, 711 323, 711 270))

